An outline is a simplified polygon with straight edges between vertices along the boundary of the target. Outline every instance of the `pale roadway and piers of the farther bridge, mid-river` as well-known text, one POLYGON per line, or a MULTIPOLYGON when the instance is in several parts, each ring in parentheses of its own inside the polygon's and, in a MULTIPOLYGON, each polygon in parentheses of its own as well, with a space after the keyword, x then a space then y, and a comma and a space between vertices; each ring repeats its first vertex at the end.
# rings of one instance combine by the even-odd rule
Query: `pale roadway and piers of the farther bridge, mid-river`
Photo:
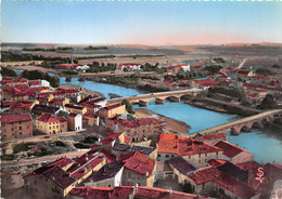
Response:
POLYGON ((181 90, 181 91, 168 91, 168 92, 158 92, 158 93, 150 93, 150 94, 143 94, 143 95, 133 95, 133 96, 126 96, 120 98, 113 98, 107 101, 107 105, 114 105, 117 103, 121 103, 124 100, 128 100, 130 103, 140 103, 142 101, 143 105, 146 105, 146 103, 153 98, 161 100, 161 104, 164 104, 164 100, 168 97, 176 97, 179 102, 180 97, 183 95, 194 95, 197 93, 203 92, 203 89, 190 89, 190 90, 181 90))

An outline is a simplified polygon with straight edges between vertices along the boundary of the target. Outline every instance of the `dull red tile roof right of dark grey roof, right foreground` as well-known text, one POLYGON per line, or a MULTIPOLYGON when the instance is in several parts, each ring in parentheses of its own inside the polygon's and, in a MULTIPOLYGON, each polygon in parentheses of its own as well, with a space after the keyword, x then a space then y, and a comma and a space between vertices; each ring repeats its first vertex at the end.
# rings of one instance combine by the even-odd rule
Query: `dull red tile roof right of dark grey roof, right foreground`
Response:
POLYGON ((208 167, 205 169, 197 170, 196 172, 189 175, 189 177, 194 181, 196 185, 201 185, 217 178, 220 175, 215 167, 208 167))

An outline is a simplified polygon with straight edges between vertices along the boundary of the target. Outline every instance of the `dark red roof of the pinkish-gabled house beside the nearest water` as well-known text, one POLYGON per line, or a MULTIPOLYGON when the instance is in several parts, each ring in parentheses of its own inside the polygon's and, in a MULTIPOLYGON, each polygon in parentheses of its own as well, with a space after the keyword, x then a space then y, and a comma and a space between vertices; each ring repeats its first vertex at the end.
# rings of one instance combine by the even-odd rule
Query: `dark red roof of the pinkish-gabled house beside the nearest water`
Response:
POLYGON ((231 143, 223 142, 223 141, 219 141, 215 146, 221 148, 223 150, 223 155, 229 158, 233 158, 236 155, 239 155, 240 152, 251 154, 249 151, 244 150, 243 148, 240 148, 239 146, 235 146, 231 143))

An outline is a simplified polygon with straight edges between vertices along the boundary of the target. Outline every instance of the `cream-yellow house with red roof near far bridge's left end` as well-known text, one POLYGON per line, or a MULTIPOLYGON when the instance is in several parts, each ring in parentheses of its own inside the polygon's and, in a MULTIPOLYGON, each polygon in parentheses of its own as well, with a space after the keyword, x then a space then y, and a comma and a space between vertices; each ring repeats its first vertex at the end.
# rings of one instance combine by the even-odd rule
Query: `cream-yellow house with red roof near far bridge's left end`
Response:
POLYGON ((99 110, 99 117, 101 118, 113 118, 116 115, 126 114, 126 105, 124 104, 115 104, 111 106, 106 106, 99 110))

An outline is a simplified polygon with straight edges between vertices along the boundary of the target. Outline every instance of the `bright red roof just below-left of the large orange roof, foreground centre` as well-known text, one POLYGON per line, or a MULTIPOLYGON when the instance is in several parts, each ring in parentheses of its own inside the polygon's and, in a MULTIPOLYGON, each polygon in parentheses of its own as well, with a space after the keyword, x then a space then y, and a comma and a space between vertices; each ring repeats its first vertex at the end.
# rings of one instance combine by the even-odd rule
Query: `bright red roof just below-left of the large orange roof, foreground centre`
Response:
POLYGON ((119 157, 119 160, 123 160, 125 163, 125 169, 134 171, 141 175, 146 174, 150 176, 153 172, 155 160, 148 158, 145 155, 136 151, 129 152, 119 157))

